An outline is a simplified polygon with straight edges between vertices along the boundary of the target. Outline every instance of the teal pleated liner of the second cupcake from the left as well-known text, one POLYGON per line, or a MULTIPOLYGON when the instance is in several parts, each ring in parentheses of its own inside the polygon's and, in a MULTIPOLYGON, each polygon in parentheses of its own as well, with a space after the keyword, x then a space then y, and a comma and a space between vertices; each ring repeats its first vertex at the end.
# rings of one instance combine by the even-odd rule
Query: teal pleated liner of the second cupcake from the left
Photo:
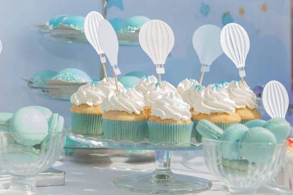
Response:
POLYGON ((115 141, 142 141, 146 137, 146 122, 147 120, 119 121, 103 119, 104 138, 115 141))

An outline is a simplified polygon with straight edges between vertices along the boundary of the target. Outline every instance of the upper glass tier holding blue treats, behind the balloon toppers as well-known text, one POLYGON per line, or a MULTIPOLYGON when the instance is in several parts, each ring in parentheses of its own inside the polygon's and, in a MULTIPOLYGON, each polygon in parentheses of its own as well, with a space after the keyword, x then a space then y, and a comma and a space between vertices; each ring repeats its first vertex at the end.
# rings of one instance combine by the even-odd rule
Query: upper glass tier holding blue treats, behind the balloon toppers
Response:
MULTIPOLYGON (((76 30, 65 25, 60 25, 56 29, 46 29, 45 25, 34 25, 39 29, 39 33, 48 40, 53 40, 58 43, 88 43, 83 30, 76 30)), ((139 45, 139 31, 119 31, 117 38, 120 45, 139 45)))

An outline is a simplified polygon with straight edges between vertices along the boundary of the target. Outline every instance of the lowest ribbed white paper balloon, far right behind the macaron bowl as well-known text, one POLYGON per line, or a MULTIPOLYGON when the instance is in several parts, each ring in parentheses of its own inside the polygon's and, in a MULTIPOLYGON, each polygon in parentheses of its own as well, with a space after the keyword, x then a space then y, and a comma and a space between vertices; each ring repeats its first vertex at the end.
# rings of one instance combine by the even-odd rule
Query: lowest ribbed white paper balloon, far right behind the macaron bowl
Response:
POLYGON ((289 96, 282 83, 272 80, 264 88, 263 104, 266 112, 272 118, 285 118, 289 107, 289 96))

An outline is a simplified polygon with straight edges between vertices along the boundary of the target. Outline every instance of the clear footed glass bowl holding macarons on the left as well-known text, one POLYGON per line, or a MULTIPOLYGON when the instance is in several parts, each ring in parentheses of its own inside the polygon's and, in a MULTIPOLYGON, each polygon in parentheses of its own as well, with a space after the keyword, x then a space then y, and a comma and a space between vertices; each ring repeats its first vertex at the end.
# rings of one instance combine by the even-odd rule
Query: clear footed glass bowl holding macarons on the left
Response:
POLYGON ((39 195, 37 175, 53 165, 61 155, 66 129, 47 134, 0 132, 0 169, 10 175, 5 195, 39 195), (42 137, 34 146, 18 143, 20 137, 42 137))

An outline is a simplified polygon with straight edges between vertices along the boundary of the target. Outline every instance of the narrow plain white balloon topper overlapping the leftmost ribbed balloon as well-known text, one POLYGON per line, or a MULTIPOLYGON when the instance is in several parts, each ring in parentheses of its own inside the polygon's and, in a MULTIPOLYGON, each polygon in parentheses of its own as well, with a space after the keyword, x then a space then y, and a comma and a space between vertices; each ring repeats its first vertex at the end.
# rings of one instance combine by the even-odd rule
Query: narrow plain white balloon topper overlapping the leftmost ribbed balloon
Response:
POLYGON ((119 91, 116 76, 120 75, 121 72, 118 68, 119 43, 117 35, 110 22, 105 19, 100 20, 98 34, 103 51, 105 52, 105 55, 113 68, 113 74, 116 81, 116 88, 117 91, 119 91))

